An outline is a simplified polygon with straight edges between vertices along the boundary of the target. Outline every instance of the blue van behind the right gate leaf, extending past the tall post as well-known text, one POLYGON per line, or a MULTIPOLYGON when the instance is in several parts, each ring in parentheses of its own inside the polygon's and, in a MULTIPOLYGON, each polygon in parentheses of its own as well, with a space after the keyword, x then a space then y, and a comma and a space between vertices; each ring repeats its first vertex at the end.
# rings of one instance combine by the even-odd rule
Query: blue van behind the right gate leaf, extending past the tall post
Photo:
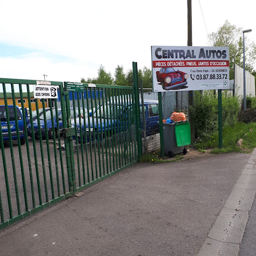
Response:
MULTIPOLYGON (((142 112, 142 104, 141 104, 141 112, 142 112)), ((128 111, 131 111, 132 108, 130 106, 129 102, 126 102, 125 105, 121 105, 117 101, 117 105, 115 103, 115 100, 110 102, 107 102, 107 104, 104 105, 104 112, 103 112, 103 105, 101 107, 97 107, 96 110, 93 112, 93 118, 91 116, 90 111, 90 131, 89 131, 89 125, 88 125, 88 118, 85 119, 86 124, 86 137, 87 142, 89 141, 89 134, 91 134, 91 140, 93 140, 93 127, 95 131, 95 139, 97 140, 97 131, 99 132, 99 140, 102 140, 101 138, 101 129, 102 129, 102 136, 104 138, 106 131, 110 131, 110 134, 116 134, 122 131, 126 131, 127 126, 131 125, 133 122, 130 117, 132 116, 132 112, 128 113, 128 111), (97 111, 97 115, 96 115, 97 111), (110 115, 111 112, 111 115, 110 115), (108 113, 108 116, 107 116, 108 113), (101 119, 100 119, 101 114, 101 119), (105 119, 103 118, 105 115, 105 119), (98 118, 96 118, 96 116, 98 118), (98 121, 98 125, 97 125, 98 121), (102 125, 100 126, 100 121, 102 125), (112 126, 111 126, 112 123, 112 126), (112 130, 111 130, 112 127, 112 130)), ((156 133, 159 133, 159 112, 158 112, 158 100, 151 100, 151 101, 145 101, 144 102, 144 112, 145 112, 145 122, 146 122, 146 136, 150 136, 156 133)), ((72 122, 74 125, 74 120, 72 122)), ((143 118, 141 115, 141 129, 143 130, 143 118)), ((77 120, 77 135, 78 135, 78 142, 80 143, 80 135, 82 133, 83 141, 85 142, 85 129, 84 129, 84 122, 81 124, 81 131, 79 127, 79 121, 77 120)), ((75 140, 75 136, 73 136, 73 140, 75 140)))

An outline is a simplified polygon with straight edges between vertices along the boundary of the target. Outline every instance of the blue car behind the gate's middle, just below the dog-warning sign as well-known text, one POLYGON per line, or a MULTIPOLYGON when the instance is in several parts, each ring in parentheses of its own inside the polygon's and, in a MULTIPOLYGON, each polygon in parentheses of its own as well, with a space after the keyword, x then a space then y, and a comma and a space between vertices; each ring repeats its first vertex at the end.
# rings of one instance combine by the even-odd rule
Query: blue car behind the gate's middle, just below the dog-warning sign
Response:
MULTIPOLYGON (((83 109, 80 109, 81 114, 83 113, 83 109)), ((85 113, 87 113, 87 109, 85 109, 85 113)), ((79 112, 78 112, 78 108, 74 109, 71 107, 70 108, 70 117, 71 117, 71 121, 74 119, 74 116, 78 117, 79 112)), ((47 110, 44 114, 40 115, 40 129, 41 129, 41 133, 42 133, 42 137, 46 136, 46 133, 48 133, 48 138, 49 139, 53 139, 53 134, 55 133, 55 138, 57 137, 57 118, 59 120, 59 129, 63 128, 63 124, 62 124, 62 112, 61 112, 61 108, 58 108, 58 116, 56 116, 56 110, 55 108, 53 108, 53 122, 54 122, 54 127, 52 126, 52 117, 51 117, 51 111, 47 110), (47 123, 47 129, 45 129, 45 121, 44 119, 46 119, 46 123, 47 123)), ((33 126, 34 126, 34 133, 35 133, 35 137, 39 137, 39 125, 37 120, 33 121, 33 126)), ((61 132, 60 135, 62 135, 63 133, 61 132)), ((28 124, 28 135, 32 137, 32 132, 31 132, 31 123, 28 124)))

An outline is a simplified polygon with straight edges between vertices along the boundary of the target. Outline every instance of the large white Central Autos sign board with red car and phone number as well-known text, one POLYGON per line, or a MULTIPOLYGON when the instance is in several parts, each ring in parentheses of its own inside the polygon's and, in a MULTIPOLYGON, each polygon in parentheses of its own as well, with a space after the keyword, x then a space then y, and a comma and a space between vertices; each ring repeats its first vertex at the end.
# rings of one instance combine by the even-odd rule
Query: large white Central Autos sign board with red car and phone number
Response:
POLYGON ((151 46, 153 90, 229 88, 228 47, 151 46))

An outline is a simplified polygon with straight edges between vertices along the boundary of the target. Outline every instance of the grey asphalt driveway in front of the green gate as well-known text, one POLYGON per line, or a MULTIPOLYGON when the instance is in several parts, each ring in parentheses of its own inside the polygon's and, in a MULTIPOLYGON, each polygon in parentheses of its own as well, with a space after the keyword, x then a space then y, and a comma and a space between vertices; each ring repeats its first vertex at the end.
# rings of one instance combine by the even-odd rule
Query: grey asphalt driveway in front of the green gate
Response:
POLYGON ((137 164, 1 230, 0 255, 210 255, 202 245, 250 161, 137 164))

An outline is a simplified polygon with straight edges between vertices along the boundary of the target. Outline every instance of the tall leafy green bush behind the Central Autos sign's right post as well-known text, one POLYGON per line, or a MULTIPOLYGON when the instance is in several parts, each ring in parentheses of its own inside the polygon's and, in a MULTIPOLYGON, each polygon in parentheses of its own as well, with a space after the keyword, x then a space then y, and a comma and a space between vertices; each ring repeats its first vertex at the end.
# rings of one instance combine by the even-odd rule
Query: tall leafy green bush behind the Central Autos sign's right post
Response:
MULTIPOLYGON (((236 121, 240 109, 237 97, 226 96, 222 93, 222 123, 223 127, 236 121)), ((218 98, 213 90, 201 93, 195 91, 194 105, 190 107, 196 138, 209 137, 218 130, 218 98)))

